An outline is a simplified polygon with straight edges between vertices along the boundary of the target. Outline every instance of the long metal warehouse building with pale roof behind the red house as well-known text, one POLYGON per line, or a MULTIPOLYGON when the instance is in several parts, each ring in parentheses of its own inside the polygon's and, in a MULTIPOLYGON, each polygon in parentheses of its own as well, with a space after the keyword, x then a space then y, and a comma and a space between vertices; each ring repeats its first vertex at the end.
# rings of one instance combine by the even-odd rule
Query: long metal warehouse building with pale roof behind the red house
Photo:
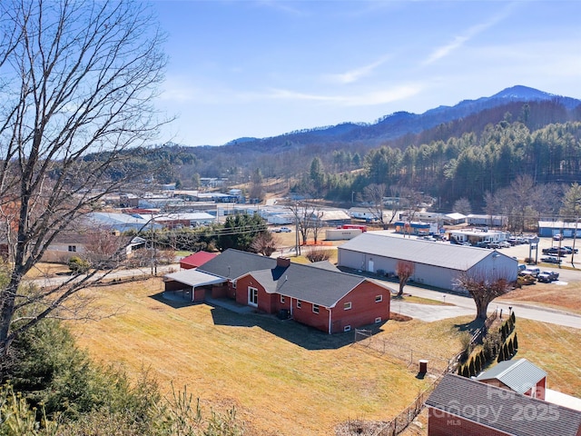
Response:
POLYGON ((413 282, 458 290, 458 275, 487 274, 517 280, 516 259, 486 248, 435 243, 395 235, 363 233, 338 247, 340 267, 394 274, 400 261, 414 264, 413 282))

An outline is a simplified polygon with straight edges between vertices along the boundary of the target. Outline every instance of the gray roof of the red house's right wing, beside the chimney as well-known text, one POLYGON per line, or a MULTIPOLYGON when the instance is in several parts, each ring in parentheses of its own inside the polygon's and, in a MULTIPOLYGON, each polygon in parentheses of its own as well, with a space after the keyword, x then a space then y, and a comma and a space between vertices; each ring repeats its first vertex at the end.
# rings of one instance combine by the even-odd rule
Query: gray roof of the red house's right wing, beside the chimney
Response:
MULTIPOLYGON (((279 293, 323 307, 334 307, 359 283, 369 281, 359 275, 300 263, 249 273, 261 283, 266 292, 279 293)), ((373 283, 391 291, 388 286, 379 282, 373 283)))

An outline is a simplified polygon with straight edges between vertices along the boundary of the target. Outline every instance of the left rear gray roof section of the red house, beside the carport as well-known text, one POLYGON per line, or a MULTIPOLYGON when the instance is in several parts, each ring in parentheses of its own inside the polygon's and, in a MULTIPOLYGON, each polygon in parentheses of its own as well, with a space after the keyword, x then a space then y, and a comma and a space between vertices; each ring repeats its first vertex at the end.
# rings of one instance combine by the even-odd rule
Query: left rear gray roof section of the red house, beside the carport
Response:
POLYGON ((198 267, 198 271, 236 279, 247 272, 270 269, 275 266, 276 259, 271 257, 228 249, 198 267))

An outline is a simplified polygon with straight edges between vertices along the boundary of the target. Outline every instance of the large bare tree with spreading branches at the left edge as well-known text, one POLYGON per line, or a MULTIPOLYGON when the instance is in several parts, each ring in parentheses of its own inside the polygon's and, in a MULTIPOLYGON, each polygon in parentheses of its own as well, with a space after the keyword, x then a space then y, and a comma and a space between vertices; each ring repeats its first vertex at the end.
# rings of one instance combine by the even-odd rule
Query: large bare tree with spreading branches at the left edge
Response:
POLYGON ((0 17, 0 216, 13 260, 0 295, 6 352, 98 280, 21 286, 56 235, 139 176, 124 171, 123 152, 151 142, 165 122, 153 98, 166 59, 141 2, 5 0, 0 17))

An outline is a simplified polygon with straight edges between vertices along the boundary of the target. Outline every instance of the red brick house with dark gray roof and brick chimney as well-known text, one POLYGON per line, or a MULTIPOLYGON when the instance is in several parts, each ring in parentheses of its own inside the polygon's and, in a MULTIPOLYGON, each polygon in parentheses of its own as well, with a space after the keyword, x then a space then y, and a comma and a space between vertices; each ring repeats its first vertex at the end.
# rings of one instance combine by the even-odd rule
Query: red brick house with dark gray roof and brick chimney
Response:
MULTIPOLYGON (((195 270, 200 286, 212 285, 213 298, 231 298, 257 311, 290 317, 323 332, 351 329, 389 320, 391 289, 358 275, 340 272, 330 263, 303 265, 288 258, 272 259, 227 250, 195 270), (222 283, 208 278, 222 277, 222 283)), ((170 274, 167 290, 175 290, 181 276, 170 274)), ((196 283, 189 281, 192 294, 196 283)), ((208 291, 205 295, 209 295, 208 291)))

